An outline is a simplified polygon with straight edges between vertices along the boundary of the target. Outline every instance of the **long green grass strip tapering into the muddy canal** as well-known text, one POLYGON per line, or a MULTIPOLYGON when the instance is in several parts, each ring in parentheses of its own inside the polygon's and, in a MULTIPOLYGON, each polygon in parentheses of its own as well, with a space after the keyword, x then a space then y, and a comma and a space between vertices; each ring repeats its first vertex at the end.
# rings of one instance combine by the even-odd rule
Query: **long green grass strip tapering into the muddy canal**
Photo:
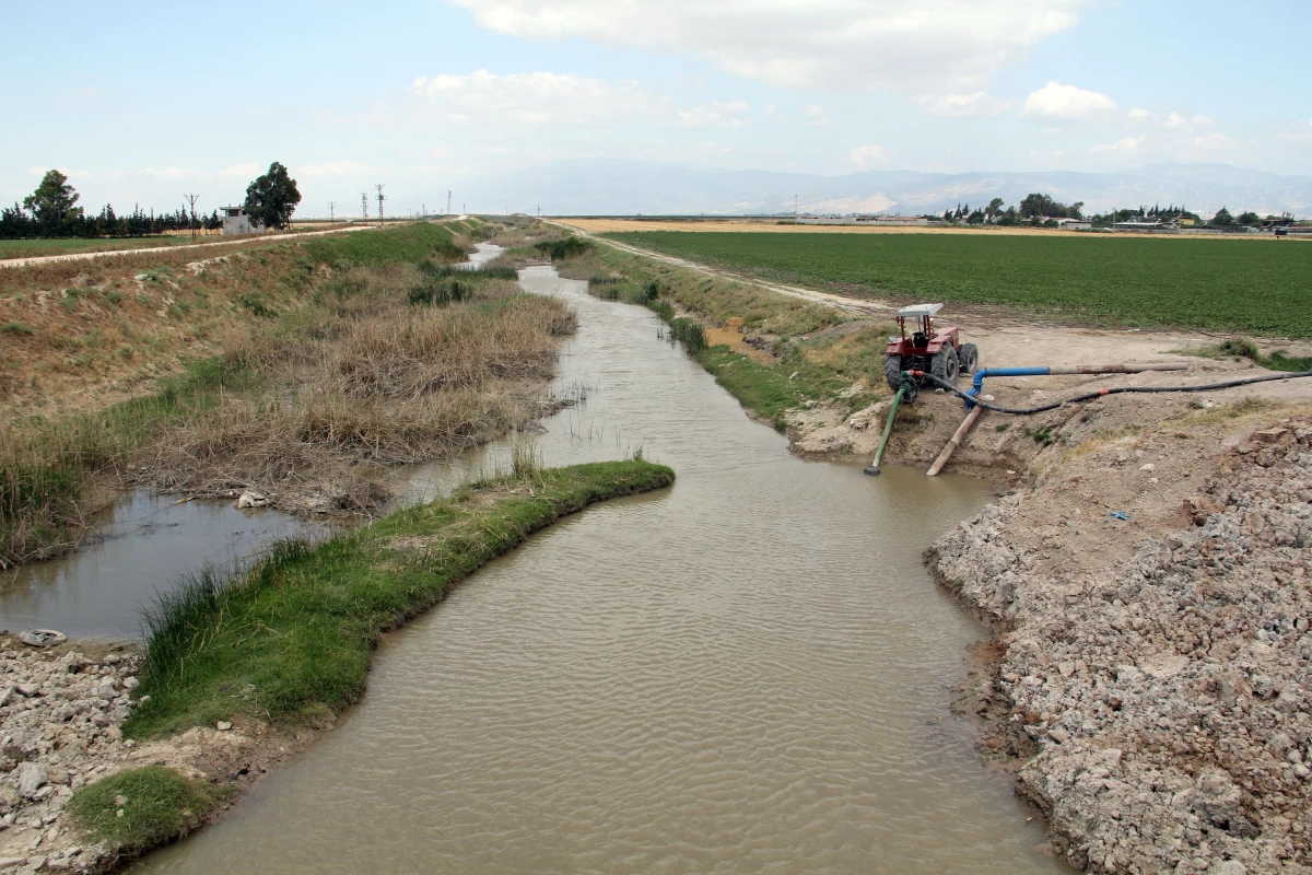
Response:
POLYGON ((640 459, 538 470, 517 458, 512 475, 356 533, 285 542, 241 573, 205 569, 148 613, 139 693, 151 698, 123 731, 148 737, 244 714, 295 722, 345 707, 383 631, 555 519, 673 479, 640 459))

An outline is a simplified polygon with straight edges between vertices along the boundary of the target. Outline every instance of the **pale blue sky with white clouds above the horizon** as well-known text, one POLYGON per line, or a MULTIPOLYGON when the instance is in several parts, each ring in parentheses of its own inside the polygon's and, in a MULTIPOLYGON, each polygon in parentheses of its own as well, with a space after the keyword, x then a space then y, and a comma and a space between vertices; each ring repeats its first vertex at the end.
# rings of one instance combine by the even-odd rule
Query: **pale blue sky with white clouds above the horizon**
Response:
POLYGON ((4 202, 58 167, 93 209, 209 211, 273 160, 306 215, 577 157, 1312 173, 1312 4, 9 3, 3 22, 4 202))

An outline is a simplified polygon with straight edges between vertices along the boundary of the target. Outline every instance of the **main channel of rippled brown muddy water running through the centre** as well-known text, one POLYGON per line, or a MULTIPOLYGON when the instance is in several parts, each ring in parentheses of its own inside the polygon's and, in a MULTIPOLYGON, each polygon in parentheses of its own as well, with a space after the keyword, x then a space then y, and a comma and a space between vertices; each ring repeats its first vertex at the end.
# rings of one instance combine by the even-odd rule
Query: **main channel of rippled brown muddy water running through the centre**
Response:
POLYGON ((677 484, 462 584, 337 731, 136 871, 1064 871, 949 715, 980 630, 920 552, 983 484, 796 459, 647 311, 523 282, 579 310, 590 387, 546 462, 640 445, 677 484))

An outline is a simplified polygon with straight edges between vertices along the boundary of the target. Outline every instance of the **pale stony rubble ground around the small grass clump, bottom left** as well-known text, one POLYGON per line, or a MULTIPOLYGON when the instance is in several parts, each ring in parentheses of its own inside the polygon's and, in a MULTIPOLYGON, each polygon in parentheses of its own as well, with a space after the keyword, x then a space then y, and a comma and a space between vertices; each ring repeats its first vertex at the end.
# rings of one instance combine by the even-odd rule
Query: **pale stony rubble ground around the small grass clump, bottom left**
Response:
POLYGON ((102 872, 119 863, 66 816, 87 783, 165 765, 241 787, 311 739, 228 724, 147 744, 123 739, 139 665, 127 645, 37 648, 0 635, 0 872, 102 872))

